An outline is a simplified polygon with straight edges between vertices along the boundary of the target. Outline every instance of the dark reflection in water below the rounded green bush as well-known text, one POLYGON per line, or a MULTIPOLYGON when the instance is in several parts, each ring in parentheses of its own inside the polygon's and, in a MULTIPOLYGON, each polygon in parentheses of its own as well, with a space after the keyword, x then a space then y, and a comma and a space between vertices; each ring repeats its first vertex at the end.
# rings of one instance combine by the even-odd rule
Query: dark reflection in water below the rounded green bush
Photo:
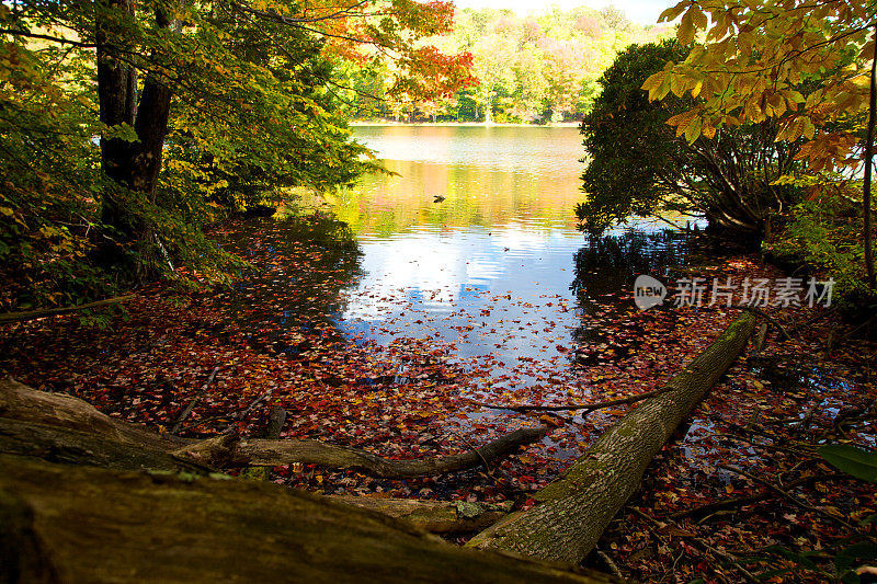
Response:
MULTIPOLYGON (((590 236, 588 243, 576 252, 576 279, 570 289, 576 293, 580 313, 593 314, 597 302, 616 302, 622 308, 633 306, 634 280, 648 274, 669 284, 665 276, 673 266, 687 260, 685 232, 665 230, 642 232, 628 230, 617 236, 590 236), (602 298, 616 295, 612 298, 602 298)), ((602 340, 602 331, 583 324, 573 332, 579 343, 602 340)))

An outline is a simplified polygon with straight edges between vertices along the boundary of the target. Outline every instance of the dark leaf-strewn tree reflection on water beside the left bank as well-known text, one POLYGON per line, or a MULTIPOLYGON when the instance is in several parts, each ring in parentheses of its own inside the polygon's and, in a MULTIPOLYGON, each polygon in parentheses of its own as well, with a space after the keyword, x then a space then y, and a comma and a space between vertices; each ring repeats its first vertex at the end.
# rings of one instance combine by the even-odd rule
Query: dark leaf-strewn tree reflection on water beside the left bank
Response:
POLYGON ((220 243, 255 266, 236 286, 231 316, 262 342, 334 327, 342 290, 362 276, 353 232, 328 217, 247 221, 220 243))

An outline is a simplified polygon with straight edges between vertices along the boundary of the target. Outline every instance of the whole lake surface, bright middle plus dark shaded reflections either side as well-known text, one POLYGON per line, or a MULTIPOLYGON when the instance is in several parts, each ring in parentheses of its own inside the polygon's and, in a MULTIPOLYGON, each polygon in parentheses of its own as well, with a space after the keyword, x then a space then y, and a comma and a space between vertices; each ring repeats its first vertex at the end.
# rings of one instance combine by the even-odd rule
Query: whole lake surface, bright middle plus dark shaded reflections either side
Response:
POLYGON ((582 396, 580 366, 595 364, 590 347, 616 343, 607 314, 633 307, 636 275, 684 262, 679 238, 659 225, 591 239, 577 230, 578 128, 355 134, 394 174, 304 202, 346 224, 355 249, 300 221, 249 222, 224 242, 271 266, 240 284, 235 318, 254 337, 269 331, 275 350, 295 351, 288 332, 322 319, 346 342, 429 343, 472 374, 476 398, 582 396))

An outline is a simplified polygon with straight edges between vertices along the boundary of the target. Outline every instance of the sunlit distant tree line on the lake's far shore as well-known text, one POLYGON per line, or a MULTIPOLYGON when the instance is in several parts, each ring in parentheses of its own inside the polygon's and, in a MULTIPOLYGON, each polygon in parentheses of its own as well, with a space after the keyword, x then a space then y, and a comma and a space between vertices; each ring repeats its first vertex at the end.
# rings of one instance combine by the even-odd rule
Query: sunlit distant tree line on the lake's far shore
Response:
POLYGON ((511 10, 458 10, 453 30, 429 38, 446 54, 468 53, 474 79, 449 94, 388 95, 395 66, 345 64, 351 118, 396 122, 532 123, 579 121, 599 92, 596 80, 620 50, 672 32, 631 23, 615 8, 554 8, 519 18, 511 10))

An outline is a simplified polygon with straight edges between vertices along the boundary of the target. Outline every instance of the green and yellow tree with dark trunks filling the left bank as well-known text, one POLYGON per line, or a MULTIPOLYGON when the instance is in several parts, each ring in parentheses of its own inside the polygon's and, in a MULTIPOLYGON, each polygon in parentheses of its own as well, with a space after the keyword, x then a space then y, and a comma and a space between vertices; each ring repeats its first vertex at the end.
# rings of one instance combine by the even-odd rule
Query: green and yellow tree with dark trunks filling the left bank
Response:
POLYGON ((80 304, 156 275, 225 279, 240 262, 206 224, 375 168, 339 114, 338 64, 392 53, 399 70, 419 70, 410 91, 456 89, 466 73, 465 59, 417 44, 447 30, 446 4, 308 11, 287 0, 1 4, 0 276, 12 284, 0 310, 80 304))

